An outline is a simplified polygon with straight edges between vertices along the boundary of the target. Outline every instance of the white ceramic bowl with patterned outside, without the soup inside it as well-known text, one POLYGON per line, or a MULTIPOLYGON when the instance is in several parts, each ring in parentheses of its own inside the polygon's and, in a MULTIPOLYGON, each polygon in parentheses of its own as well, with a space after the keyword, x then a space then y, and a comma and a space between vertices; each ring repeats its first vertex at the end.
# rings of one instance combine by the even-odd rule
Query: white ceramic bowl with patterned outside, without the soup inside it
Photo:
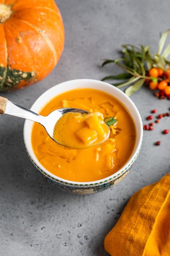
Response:
POLYGON ((70 193, 79 193, 79 194, 91 194, 97 193, 99 191, 104 191, 108 189, 118 182, 120 182, 130 171, 130 168, 135 163, 137 156, 139 154, 139 150, 141 148, 142 137, 143 137, 143 125, 141 121, 141 116, 137 107, 132 102, 132 100, 120 89, 110 85, 106 82, 97 81, 93 79, 76 79, 72 81, 66 81, 60 83, 58 85, 53 86, 46 92, 44 92, 33 104, 31 110, 34 112, 40 112, 42 108, 51 100, 53 97, 66 92, 68 90, 73 90, 76 88, 93 88, 97 90, 102 90, 107 92, 108 94, 113 95, 119 101, 121 101, 124 106, 129 110, 136 126, 137 130, 137 139, 135 148, 132 152, 132 155, 128 162, 116 173, 106 177, 102 180, 95 180, 93 182, 73 182, 70 180, 64 180, 60 177, 57 177, 51 174, 48 170, 46 170, 35 157, 31 146, 31 130, 33 127, 33 122, 26 120, 24 123, 24 143, 26 147, 26 151, 31 159, 31 162, 36 167, 38 172, 45 178, 46 181, 53 184, 55 187, 60 188, 64 191, 68 191, 70 193))

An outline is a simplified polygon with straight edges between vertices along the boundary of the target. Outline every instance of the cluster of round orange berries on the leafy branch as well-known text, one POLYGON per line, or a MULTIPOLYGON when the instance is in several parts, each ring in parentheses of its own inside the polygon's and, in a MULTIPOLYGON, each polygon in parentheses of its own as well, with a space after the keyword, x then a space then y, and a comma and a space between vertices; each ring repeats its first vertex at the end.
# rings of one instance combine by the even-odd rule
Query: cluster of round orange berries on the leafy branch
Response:
POLYGON ((146 83, 149 83, 151 90, 158 90, 155 92, 156 97, 170 99, 170 68, 163 71, 161 68, 152 67, 148 72, 146 83))

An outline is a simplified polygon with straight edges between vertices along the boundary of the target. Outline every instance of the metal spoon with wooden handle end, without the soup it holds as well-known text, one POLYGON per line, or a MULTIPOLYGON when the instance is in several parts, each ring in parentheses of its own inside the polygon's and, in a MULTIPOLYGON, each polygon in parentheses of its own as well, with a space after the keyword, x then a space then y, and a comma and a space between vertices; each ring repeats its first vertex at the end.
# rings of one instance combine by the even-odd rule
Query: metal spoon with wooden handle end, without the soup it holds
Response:
MULTIPOLYGON (((60 119, 60 117, 62 117, 62 115, 64 115, 67 112, 76 112, 76 113, 80 113, 80 114, 88 114, 89 113, 85 110, 80 110, 77 108, 59 108, 59 109, 51 112, 46 117, 44 117, 42 115, 38 115, 37 113, 35 113, 27 108, 23 108, 23 107, 17 105, 16 103, 13 103, 12 101, 9 101, 7 98, 0 97, 0 114, 1 115, 7 114, 7 115, 15 116, 15 117, 21 117, 21 118, 29 119, 31 121, 41 124, 42 126, 44 126, 48 135, 58 144, 60 144, 60 143, 53 138, 54 127, 55 127, 55 124, 57 123, 58 119, 60 119)), ((104 141, 102 141, 102 142, 104 142, 104 141)), ((67 147, 67 145, 62 145, 62 146, 67 147)))

